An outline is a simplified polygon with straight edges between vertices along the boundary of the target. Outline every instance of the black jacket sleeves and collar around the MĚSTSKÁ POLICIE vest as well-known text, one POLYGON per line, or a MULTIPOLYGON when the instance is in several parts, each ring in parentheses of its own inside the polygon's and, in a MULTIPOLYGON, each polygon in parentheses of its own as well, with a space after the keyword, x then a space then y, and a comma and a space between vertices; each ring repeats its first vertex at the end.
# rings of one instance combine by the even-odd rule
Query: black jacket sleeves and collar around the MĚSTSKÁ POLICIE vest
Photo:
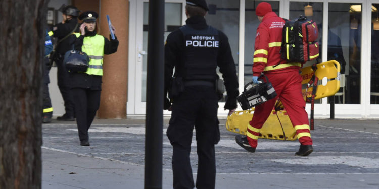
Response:
MULTIPOLYGON (((186 25, 197 30, 208 27, 205 18, 202 16, 194 16, 188 18, 186 25)), ((184 37, 183 33, 177 29, 171 32, 167 36, 165 44, 165 87, 164 87, 164 109, 167 109, 171 103, 166 98, 168 89, 170 87, 170 81, 173 74, 173 68, 178 64, 182 64, 182 52, 184 49, 184 37)), ((237 107, 236 98, 239 94, 238 91, 238 79, 235 70, 235 64, 231 55, 230 45, 226 35, 219 31, 219 51, 217 54, 217 66, 220 68, 222 77, 224 79, 227 100, 225 103, 225 109, 234 109, 237 107)))

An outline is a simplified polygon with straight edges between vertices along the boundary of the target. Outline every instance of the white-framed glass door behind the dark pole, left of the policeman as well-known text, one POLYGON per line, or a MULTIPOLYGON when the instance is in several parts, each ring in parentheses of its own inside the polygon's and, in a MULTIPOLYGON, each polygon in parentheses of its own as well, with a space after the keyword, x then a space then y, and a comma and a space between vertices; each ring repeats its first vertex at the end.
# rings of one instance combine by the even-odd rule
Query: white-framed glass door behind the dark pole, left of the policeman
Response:
MULTIPOLYGON (((185 1, 165 1, 165 32, 167 35, 185 23, 185 1)), ((145 114, 146 111, 146 78, 148 55, 149 1, 130 1, 130 18, 135 16, 135 23, 130 24, 129 44, 134 49, 129 51, 129 87, 128 114, 145 114), (133 10, 134 8, 134 10, 133 10), (134 25, 133 25, 134 24, 134 25), (134 34, 134 35, 133 35, 134 34), (134 58, 133 58, 134 57, 134 58)), ((134 19, 133 19, 134 20, 134 19)), ((132 22, 132 21, 131 21, 132 22)), ((162 41, 162 44, 164 41, 162 41)), ((131 47, 132 48, 132 47, 131 47)), ((163 87, 163 86, 162 86, 163 87)), ((168 113, 168 112, 165 112, 168 113)))

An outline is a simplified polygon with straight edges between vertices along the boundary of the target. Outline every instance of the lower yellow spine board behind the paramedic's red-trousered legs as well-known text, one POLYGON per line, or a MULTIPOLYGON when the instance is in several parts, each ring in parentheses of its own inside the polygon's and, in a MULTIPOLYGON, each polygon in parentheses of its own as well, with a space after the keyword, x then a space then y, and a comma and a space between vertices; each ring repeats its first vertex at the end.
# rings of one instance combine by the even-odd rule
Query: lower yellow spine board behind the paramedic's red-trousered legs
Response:
MULTIPOLYGON (((254 109, 235 111, 226 120, 226 130, 246 135, 248 124, 253 117, 254 109)), ((263 124, 259 138, 295 141, 296 132, 286 111, 272 111, 263 124), (277 116, 276 116, 277 113, 277 116), (280 122, 279 122, 280 120, 280 122), (283 129, 280 127, 280 123, 283 129), (283 130, 284 134, 283 135, 283 130), (286 137, 284 137, 286 136, 286 137)))

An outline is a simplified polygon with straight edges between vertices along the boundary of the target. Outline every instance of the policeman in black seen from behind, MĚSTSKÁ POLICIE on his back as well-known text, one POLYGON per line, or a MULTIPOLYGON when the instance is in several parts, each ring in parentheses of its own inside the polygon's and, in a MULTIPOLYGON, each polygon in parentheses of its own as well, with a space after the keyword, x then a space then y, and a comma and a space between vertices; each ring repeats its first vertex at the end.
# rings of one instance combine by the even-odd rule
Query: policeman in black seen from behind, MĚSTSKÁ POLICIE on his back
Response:
POLYGON ((228 38, 206 23, 205 0, 186 3, 186 25, 170 33, 165 44, 165 96, 168 91, 172 104, 165 97, 164 109, 172 110, 167 137, 173 147, 173 188, 195 186, 189 161, 194 126, 199 157, 196 187, 214 188, 214 145, 220 140, 217 66, 226 86, 224 108, 229 109, 229 115, 237 107, 238 80, 228 38))

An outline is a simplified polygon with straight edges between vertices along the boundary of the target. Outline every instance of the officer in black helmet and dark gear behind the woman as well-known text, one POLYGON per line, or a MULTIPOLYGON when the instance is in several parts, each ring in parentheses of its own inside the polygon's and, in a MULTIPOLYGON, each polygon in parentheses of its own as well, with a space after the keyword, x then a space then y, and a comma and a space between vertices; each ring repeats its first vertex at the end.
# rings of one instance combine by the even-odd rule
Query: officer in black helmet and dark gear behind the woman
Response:
POLYGON ((53 26, 53 37, 58 38, 56 48, 51 56, 57 64, 58 72, 58 87, 61 91, 62 98, 65 105, 66 113, 63 116, 57 117, 57 120, 74 121, 74 103, 73 97, 70 92, 68 71, 63 65, 64 54, 71 49, 71 45, 68 41, 68 36, 74 32, 79 32, 79 24, 77 17, 79 16, 79 10, 72 5, 62 5, 59 8, 62 12, 63 21, 53 26))

